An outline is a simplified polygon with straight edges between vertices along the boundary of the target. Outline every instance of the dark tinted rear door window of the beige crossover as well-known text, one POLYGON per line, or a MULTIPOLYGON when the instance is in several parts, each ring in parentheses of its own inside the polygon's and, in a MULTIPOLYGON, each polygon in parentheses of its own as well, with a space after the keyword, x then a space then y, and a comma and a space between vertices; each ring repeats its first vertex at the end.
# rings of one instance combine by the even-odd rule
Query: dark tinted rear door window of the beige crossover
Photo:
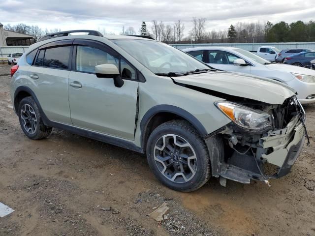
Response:
POLYGON ((67 69, 71 46, 48 48, 45 51, 44 66, 67 69))

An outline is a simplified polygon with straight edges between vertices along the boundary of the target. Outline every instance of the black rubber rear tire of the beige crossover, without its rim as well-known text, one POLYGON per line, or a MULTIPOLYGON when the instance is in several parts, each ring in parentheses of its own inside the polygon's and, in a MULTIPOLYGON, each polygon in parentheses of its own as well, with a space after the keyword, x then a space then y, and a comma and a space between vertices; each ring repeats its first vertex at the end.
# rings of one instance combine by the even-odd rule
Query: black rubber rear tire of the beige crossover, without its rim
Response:
POLYGON ((21 100, 18 108, 18 117, 23 132, 32 140, 44 139, 48 135, 50 135, 52 131, 52 127, 48 127, 43 123, 38 106, 32 97, 25 97, 21 100), (24 105, 26 105, 27 107, 30 106, 32 108, 32 111, 34 112, 34 117, 36 118, 36 124, 34 125, 35 130, 33 133, 28 132, 24 126, 24 121, 22 118, 22 109, 24 109, 24 105))

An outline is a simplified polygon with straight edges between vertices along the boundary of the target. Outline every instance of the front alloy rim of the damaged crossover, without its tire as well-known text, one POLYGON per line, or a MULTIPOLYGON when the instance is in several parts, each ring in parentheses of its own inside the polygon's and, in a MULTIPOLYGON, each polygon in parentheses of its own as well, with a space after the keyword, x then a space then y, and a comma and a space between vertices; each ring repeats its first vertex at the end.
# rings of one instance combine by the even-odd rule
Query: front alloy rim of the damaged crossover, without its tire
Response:
POLYGON ((186 183, 197 170, 197 156, 189 142, 175 134, 163 135, 154 147, 160 173, 176 183, 186 183))

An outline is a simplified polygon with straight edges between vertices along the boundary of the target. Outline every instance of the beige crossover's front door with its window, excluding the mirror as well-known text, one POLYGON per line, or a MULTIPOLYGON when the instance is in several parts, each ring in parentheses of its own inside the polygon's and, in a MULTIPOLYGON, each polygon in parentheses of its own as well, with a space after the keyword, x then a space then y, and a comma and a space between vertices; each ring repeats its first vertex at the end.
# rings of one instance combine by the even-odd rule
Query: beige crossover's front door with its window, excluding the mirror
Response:
POLYGON ((69 102, 74 126, 134 140, 138 79, 136 69, 105 44, 75 40, 69 75, 69 102), (115 64, 125 82, 97 78, 95 66, 115 64))

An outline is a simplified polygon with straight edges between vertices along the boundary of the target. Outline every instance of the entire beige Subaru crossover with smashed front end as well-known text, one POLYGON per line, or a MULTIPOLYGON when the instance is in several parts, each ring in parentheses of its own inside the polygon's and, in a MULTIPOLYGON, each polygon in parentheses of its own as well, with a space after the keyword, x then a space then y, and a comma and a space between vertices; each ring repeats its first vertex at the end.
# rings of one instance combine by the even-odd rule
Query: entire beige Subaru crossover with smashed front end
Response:
POLYGON ((307 137, 290 87, 217 71, 148 37, 49 34, 11 75, 14 110, 30 139, 55 127, 145 153, 155 176, 178 191, 211 176, 223 186, 268 183, 290 172, 307 137))

